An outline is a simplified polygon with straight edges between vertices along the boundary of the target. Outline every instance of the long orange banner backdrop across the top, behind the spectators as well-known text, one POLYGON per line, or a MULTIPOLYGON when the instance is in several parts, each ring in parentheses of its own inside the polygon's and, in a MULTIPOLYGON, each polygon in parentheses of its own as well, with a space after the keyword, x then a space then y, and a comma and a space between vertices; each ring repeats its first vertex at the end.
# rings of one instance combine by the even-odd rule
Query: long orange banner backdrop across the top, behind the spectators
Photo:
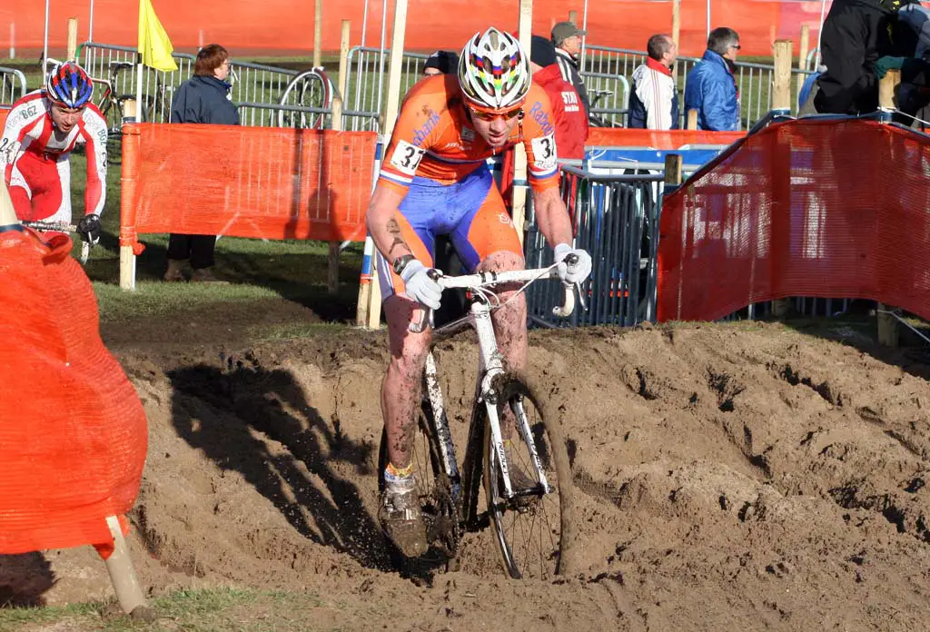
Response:
MULTIPOLYGON (((387 7, 387 39, 393 23, 393 1, 387 7)), ((6 2, 0 7, 0 57, 7 55, 12 40, 19 49, 37 50, 43 45, 43 2, 6 2)), ((96 0, 94 41, 136 46, 138 2, 96 0)), ((78 35, 87 39, 90 18, 88 0, 50 0, 51 45, 67 43, 67 20, 77 18, 78 35)), ((153 0, 153 7, 178 49, 190 51, 201 43, 218 42, 233 55, 303 52, 313 46, 313 3, 307 0, 223 0, 221 3, 187 0, 153 0)), ((368 0, 366 46, 378 46, 382 2, 368 0)), ((644 50, 649 35, 671 32, 671 0, 591 0, 588 5, 589 45, 644 50)), ((829 9, 830 2, 827 3, 829 9)), ((741 36, 744 55, 772 54, 776 38, 794 40, 797 54, 801 25, 811 29, 811 47, 817 46, 821 3, 775 0, 711 0, 711 27, 729 26, 741 36)), ((458 49, 472 33, 491 25, 516 29, 517 0, 487 0, 476 6, 471 0, 409 0, 405 49, 458 49)), ((533 32, 548 34, 552 25, 567 20, 569 11, 583 18, 584 0, 535 0, 533 32)), ((352 46, 361 44, 365 0, 324 0, 323 47, 339 50, 341 20, 352 20, 352 46)), ((707 1, 682 0, 681 49, 699 56, 707 43, 707 1)), ((21 54, 21 53, 20 53, 21 54)))

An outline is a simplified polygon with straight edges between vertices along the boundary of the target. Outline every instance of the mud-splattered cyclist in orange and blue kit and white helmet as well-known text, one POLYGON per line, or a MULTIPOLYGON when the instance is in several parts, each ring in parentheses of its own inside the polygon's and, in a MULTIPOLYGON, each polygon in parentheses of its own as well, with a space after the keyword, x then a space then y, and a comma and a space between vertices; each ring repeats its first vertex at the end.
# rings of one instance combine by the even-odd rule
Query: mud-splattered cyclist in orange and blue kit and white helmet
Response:
MULTIPOLYGON (((379 520, 407 557, 429 546, 410 462, 421 379, 431 331, 409 331, 421 309, 440 306, 430 276, 433 241, 449 235, 472 271, 522 270, 523 249, 486 159, 523 143, 539 229, 562 261, 566 283, 591 273, 591 257, 572 246, 572 227, 559 195, 555 129, 549 99, 531 82, 519 42, 490 28, 462 50, 458 73, 419 81, 407 94, 368 207, 367 226, 379 251, 379 279, 391 360, 381 387, 388 434, 379 520), (574 263, 565 257, 574 254, 574 263)), ((499 296, 507 300, 510 292, 499 296)), ((526 365, 526 303, 518 296, 494 313, 510 370, 526 365)), ((502 428, 510 436, 512 420, 502 428)), ((515 476, 515 474, 512 474, 515 476)))

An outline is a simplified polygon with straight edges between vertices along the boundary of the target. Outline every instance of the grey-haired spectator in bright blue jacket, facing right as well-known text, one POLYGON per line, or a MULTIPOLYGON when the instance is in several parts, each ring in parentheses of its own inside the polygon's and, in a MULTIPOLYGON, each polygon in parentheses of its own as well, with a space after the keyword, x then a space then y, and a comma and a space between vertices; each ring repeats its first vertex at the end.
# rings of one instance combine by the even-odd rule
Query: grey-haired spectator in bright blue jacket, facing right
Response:
POLYGON ((739 35, 722 26, 711 31, 703 59, 688 72, 684 110, 697 110, 698 129, 739 129, 739 91, 733 73, 738 54, 739 35))

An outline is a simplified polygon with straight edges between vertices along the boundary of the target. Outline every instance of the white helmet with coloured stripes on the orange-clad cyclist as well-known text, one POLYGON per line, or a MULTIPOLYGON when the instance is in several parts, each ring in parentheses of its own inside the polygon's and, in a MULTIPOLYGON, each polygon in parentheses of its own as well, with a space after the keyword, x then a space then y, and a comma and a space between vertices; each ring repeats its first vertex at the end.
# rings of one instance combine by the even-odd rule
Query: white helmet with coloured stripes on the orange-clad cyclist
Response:
POLYGON ((478 110, 518 107, 529 92, 532 72, 520 42, 491 27, 475 33, 458 58, 458 85, 478 110))

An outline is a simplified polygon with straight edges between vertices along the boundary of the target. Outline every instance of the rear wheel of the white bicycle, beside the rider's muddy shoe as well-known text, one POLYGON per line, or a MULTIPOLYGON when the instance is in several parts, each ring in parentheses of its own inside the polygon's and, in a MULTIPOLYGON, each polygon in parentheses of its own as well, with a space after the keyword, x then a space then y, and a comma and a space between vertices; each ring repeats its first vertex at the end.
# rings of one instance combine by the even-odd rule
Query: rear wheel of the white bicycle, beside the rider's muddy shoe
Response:
MULTIPOLYGON (((427 538, 430 550, 418 560, 407 560, 400 551, 392 548, 392 558, 399 570, 415 573, 411 562, 418 567, 435 567, 453 560, 458 550, 459 527, 458 512, 452 499, 452 487, 442 467, 442 453, 439 441, 432 427, 432 410, 428 402, 423 402, 417 415, 417 432, 413 441, 413 453, 410 455, 417 480, 420 511, 426 522, 427 538)), ((384 468, 388 465, 387 429, 381 430, 381 444, 378 451, 378 491, 384 491, 384 468)), ((425 570, 425 569, 420 569, 425 570)))

